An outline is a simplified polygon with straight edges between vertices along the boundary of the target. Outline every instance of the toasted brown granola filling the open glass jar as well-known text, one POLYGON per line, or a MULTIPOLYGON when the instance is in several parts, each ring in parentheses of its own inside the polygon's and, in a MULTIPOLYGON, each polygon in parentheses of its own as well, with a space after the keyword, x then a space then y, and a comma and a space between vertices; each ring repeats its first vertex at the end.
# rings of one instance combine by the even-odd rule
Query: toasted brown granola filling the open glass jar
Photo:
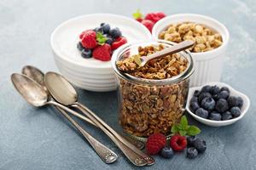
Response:
MULTIPOLYGON (((140 47, 138 55, 146 56, 163 48, 162 45, 140 47)), ((125 63, 129 58, 124 60, 125 63)), ((166 79, 177 76, 187 67, 187 59, 180 54, 172 54, 153 59, 130 74, 145 79, 166 79)), ((148 137, 152 133, 167 135, 183 115, 188 91, 189 80, 168 85, 144 85, 119 77, 119 123, 126 133, 138 137, 148 137)))

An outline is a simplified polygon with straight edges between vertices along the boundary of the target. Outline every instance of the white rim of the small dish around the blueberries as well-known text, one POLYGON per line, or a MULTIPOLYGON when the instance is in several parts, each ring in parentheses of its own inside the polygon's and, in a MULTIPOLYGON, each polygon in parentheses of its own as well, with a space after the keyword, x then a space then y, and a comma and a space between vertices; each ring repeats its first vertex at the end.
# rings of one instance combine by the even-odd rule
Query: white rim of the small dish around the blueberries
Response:
POLYGON ((226 84, 224 82, 208 82, 208 83, 206 83, 202 86, 189 88, 189 94, 188 94, 188 99, 187 99, 187 104, 186 104, 186 111, 189 112, 189 115, 195 117, 196 119, 201 120, 201 122, 204 123, 204 124, 211 123, 211 124, 215 124, 215 125, 222 125, 222 124, 231 124, 231 123, 234 123, 234 122, 240 120, 243 116, 246 115, 250 105, 251 105, 250 99, 247 97, 247 95, 242 94, 240 91, 236 90, 235 88, 232 88, 229 84, 226 84), (211 85, 211 86, 216 85, 218 87, 224 87, 224 86, 228 87, 230 89, 230 92, 233 92, 234 94, 236 94, 236 96, 240 96, 243 99, 245 99, 243 102, 247 103, 247 107, 244 108, 244 111, 241 112, 240 116, 238 116, 236 118, 233 118, 233 119, 230 119, 230 120, 225 120, 225 121, 213 121, 213 120, 205 119, 205 118, 202 118, 201 116, 195 115, 195 113, 193 111, 191 111, 190 108, 189 108, 189 100, 191 99, 191 97, 193 95, 192 93, 195 92, 195 90, 201 89, 202 87, 204 87, 206 85, 211 85))

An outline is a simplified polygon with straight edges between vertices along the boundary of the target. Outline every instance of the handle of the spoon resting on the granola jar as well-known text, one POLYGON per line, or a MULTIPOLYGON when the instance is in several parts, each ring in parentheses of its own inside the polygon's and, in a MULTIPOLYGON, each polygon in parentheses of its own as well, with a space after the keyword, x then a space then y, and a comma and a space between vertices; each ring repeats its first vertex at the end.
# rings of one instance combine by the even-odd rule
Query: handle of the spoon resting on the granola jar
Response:
POLYGON ((166 55, 169 54, 175 54, 177 52, 183 51, 184 49, 190 48, 194 45, 195 42, 190 41, 190 40, 186 40, 183 42, 179 42, 175 45, 173 45, 172 47, 169 48, 165 48, 163 50, 161 50, 160 52, 148 55, 148 56, 143 56, 142 59, 144 62, 148 62, 151 59, 156 59, 156 58, 160 58, 160 57, 164 57, 166 55))

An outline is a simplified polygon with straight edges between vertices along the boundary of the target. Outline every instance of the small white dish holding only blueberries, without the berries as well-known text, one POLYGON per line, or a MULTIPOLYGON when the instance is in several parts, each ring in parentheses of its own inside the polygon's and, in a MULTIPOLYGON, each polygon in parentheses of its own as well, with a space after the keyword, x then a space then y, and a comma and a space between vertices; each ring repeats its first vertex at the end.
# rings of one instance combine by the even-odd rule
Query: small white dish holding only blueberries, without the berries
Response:
POLYGON ((198 122, 201 122, 201 123, 206 124, 206 125, 211 126, 211 127, 222 127, 222 126, 227 126, 227 125, 230 125, 230 124, 232 124, 234 122, 237 122, 243 116, 245 116, 245 114, 247 113, 247 111, 248 111, 248 109, 250 107, 250 99, 247 97, 247 95, 242 94, 241 92, 236 91, 234 88, 230 87, 230 85, 225 84, 224 82, 209 82, 209 83, 207 83, 207 84, 205 84, 203 86, 195 87, 195 88, 189 88, 189 95, 188 95, 188 100, 187 100, 187 105, 186 105, 186 110, 198 122), (209 119, 202 118, 201 116, 197 116, 197 115, 195 115, 195 113, 190 111, 189 103, 190 103, 190 99, 192 99, 192 97, 193 97, 193 94, 194 94, 195 90, 201 90, 201 88, 203 86, 206 86, 206 85, 211 85, 211 86, 216 85, 219 88, 227 87, 227 88, 230 88, 230 95, 232 95, 232 96, 240 96, 241 99, 243 100, 243 105, 241 107, 241 115, 236 117, 236 118, 234 118, 234 119, 230 119, 230 120, 227 120, 227 121, 212 121, 212 120, 209 120, 209 119))

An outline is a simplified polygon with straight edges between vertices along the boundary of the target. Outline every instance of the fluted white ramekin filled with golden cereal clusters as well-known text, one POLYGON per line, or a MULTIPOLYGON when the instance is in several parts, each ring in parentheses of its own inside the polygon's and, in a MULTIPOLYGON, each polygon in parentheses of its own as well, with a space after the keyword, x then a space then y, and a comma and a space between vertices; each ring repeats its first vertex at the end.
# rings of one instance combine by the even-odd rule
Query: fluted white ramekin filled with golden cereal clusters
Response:
POLYGON ((171 42, 195 41, 189 49, 195 59, 190 86, 220 80, 230 33, 218 20, 201 14, 173 14, 158 21, 152 34, 154 39, 171 42))

